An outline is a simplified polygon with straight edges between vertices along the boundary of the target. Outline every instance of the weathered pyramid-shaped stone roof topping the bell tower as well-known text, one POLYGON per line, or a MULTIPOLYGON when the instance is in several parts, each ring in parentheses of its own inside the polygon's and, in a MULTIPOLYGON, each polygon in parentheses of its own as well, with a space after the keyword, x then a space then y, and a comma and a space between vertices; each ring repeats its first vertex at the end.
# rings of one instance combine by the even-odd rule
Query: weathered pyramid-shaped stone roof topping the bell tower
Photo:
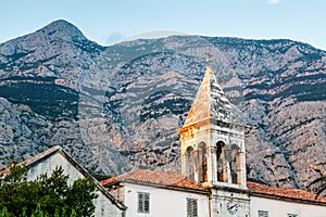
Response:
POLYGON ((206 66, 184 127, 214 118, 226 123, 235 122, 231 103, 226 98, 211 66, 206 66))

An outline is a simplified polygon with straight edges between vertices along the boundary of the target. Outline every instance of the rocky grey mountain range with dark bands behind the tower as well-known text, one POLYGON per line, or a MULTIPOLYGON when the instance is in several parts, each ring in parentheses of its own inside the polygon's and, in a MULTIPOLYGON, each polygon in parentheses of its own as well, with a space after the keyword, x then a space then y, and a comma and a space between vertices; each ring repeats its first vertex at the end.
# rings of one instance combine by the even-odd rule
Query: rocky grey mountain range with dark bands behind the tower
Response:
POLYGON ((326 154, 325 51, 201 36, 101 47, 65 21, 0 44, 0 167, 60 144, 93 174, 179 171, 206 53, 249 126, 248 177, 305 188, 326 154))

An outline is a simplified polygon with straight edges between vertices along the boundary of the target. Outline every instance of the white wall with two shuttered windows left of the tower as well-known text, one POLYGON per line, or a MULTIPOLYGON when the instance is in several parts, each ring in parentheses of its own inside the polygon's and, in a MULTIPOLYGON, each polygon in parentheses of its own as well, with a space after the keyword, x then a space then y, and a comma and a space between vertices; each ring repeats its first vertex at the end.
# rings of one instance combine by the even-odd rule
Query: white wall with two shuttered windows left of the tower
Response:
POLYGON ((206 194, 125 183, 126 217, 186 217, 187 197, 198 200, 198 216, 209 217, 206 194), (138 192, 150 193, 150 213, 137 213, 138 192))

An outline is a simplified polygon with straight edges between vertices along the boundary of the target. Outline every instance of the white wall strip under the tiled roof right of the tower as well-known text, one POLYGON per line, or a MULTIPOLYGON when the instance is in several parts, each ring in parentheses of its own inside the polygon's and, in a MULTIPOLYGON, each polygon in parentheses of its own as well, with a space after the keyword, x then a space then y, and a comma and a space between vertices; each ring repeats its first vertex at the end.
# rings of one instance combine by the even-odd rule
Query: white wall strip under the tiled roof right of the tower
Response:
POLYGON ((286 202, 260 196, 250 196, 250 217, 258 217, 259 210, 267 210, 268 217, 287 217, 297 214, 298 217, 326 217, 326 206, 286 202))

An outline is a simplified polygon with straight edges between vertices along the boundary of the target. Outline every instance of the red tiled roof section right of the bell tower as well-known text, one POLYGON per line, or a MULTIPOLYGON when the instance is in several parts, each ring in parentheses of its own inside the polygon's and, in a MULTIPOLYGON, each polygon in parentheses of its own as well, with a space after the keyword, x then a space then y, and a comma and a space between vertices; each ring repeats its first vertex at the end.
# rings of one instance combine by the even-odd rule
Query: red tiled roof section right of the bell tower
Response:
POLYGON ((256 194, 326 203, 325 197, 315 199, 316 194, 301 189, 285 189, 255 182, 247 182, 247 187, 256 194))

